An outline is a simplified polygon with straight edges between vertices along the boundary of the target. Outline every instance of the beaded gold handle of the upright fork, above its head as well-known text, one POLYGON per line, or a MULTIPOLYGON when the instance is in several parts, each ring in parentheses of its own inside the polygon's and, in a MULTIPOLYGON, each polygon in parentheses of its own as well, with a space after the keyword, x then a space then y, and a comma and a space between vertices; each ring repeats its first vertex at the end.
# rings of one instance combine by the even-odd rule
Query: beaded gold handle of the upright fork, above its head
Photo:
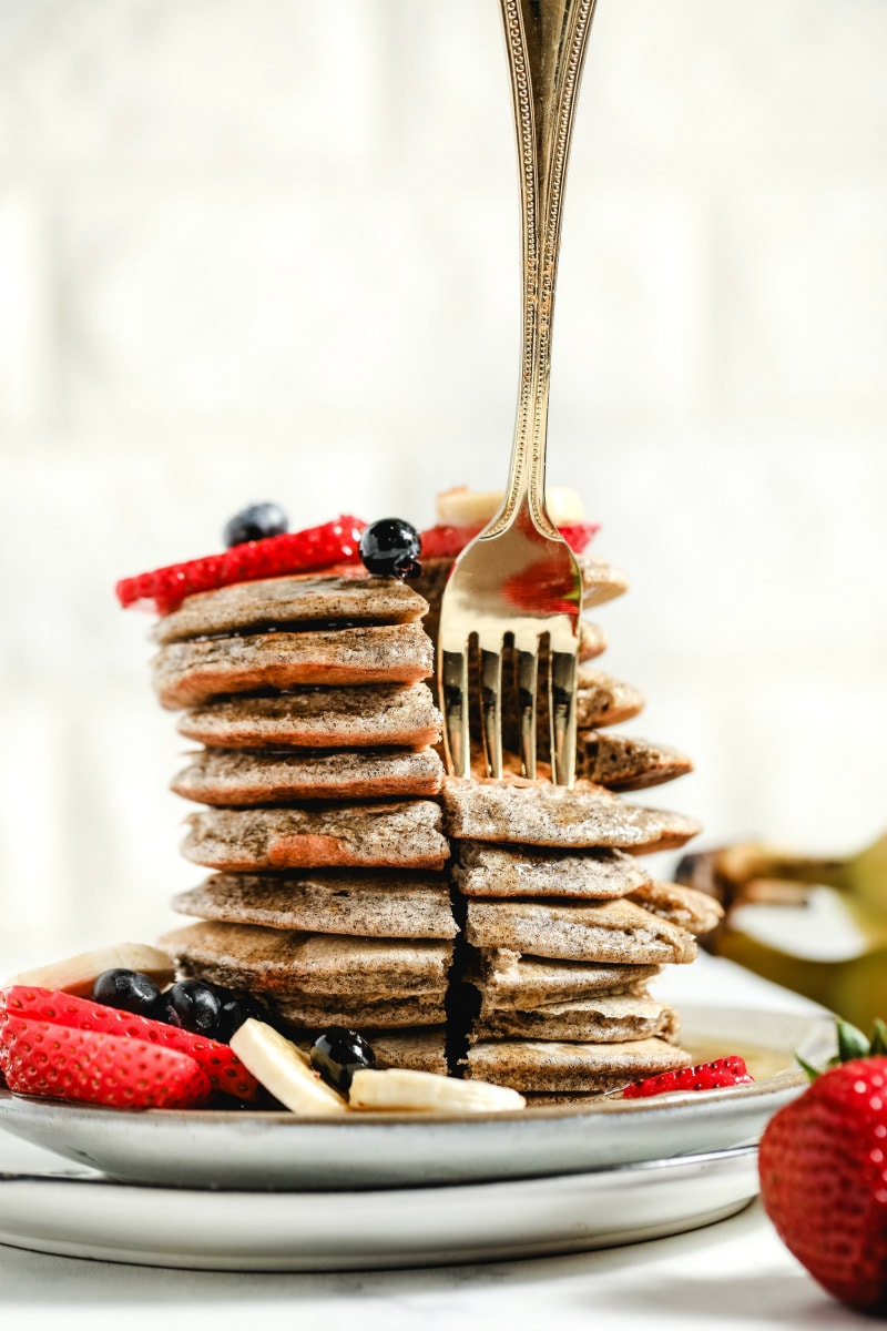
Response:
POLYGON ((505 499, 484 535, 528 510, 557 538, 545 506, 551 338, 564 184, 576 95, 596 0, 500 0, 517 130, 521 202, 521 365, 505 499))

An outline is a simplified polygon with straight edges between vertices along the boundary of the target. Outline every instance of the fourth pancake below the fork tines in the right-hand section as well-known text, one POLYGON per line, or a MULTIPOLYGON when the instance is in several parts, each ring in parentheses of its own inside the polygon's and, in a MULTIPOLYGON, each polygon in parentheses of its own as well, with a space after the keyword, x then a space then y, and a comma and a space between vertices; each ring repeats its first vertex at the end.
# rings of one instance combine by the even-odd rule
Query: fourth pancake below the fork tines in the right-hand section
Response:
POLYGON ((505 1008, 532 1012, 557 1002, 577 1002, 600 994, 640 993, 661 966, 586 964, 524 957, 511 948, 487 948, 467 980, 480 990, 480 1016, 505 1008))

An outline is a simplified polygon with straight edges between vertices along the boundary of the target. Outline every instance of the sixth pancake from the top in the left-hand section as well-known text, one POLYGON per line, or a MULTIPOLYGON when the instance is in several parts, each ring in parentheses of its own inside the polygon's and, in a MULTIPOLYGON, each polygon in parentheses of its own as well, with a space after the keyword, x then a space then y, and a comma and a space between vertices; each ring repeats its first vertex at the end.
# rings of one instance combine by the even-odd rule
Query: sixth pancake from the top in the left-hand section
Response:
POLYGON ((368 938, 455 938, 445 878, 395 872, 215 873, 173 898, 180 914, 368 938))

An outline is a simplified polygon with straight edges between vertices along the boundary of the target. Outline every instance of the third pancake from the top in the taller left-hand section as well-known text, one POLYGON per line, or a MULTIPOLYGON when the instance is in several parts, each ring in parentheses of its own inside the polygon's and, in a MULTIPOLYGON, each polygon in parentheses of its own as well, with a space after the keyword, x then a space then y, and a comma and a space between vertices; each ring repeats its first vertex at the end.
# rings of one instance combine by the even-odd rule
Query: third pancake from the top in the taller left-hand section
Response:
POLYGON ((222 697, 185 712, 178 732, 219 748, 424 748, 440 724, 424 684, 370 684, 222 697))

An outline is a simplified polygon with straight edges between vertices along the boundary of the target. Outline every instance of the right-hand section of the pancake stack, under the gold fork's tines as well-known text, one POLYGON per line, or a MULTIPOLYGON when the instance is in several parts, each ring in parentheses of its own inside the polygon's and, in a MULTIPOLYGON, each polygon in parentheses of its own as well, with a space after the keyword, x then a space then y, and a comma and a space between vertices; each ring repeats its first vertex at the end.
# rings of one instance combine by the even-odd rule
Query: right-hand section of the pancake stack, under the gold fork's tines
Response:
MULTIPOLYGON (((586 555, 578 563, 586 608, 626 590, 608 564, 586 555)), ((420 583, 432 624, 449 566, 435 560, 420 583)), ((664 965, 692 961, 696 934, 719 914, 710 897, 656 882, 638 858, 682 845, 698 825, 617 792, 672 780, 690 763, 604 731, 644 700, 589 664, 606 646, 597 624, 582 623, 580 643, 576 788, 516 775, 512 715, 505 747, 515 771, 500 781, 449 779, 442 796, 464 940, 453 977, 453 1010, 467 1014, 461 1071, 531 1102, 581 1099, 685 1066, 677 1013, 646 984, 664 965)), ((544 708, 539 721, 545 757, 544 708)))

